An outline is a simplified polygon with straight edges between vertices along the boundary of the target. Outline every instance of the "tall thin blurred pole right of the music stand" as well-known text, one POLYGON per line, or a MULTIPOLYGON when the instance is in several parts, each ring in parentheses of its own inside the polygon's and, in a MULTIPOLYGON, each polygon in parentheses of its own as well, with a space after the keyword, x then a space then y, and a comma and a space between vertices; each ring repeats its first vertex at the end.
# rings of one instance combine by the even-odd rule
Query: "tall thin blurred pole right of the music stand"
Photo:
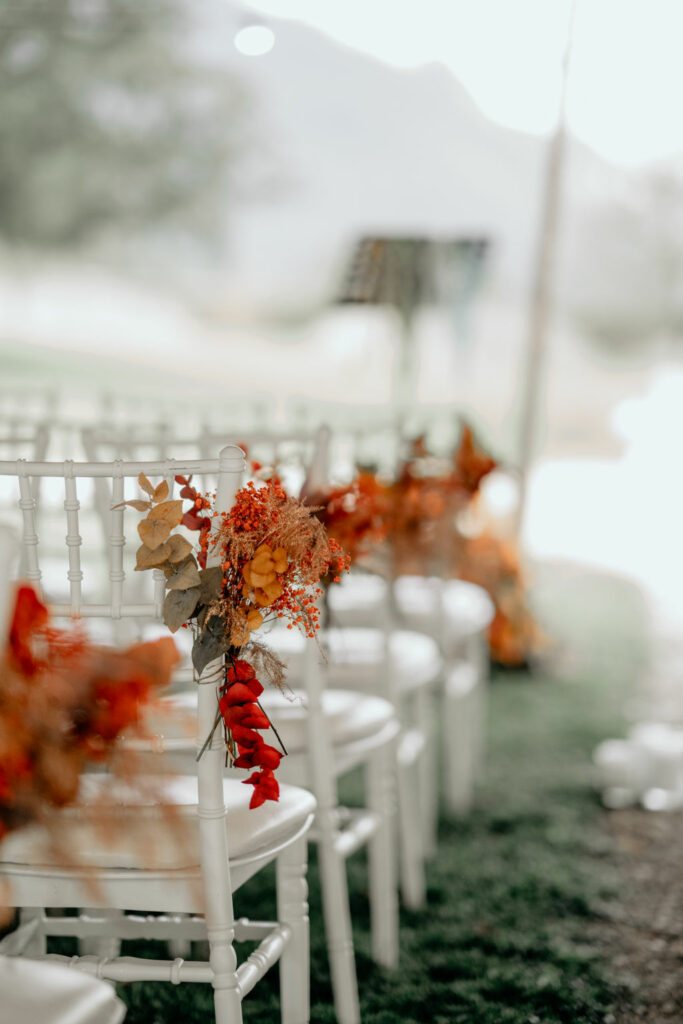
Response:
POLYGON ((557 249, 562 177, 564 171, 566 93, 575 9, 577 0, 571 0, 567 41, 564 50, 564 58, 562 60, 560 105, 557 126, 550 141, 550 147, 548 151, 543 207, 539 223, 536 265, 533 268, 533 288, 531 291, 531 300, 529 305, 525 372, 522 378, 524 403, 522 407, 519 431, 519 503, 515 519, 515 532, 517 538, 520 537, 524 512, 526 511, 528 475, 531 462, 533 460, 533 447, 536 443, 539 419, 543 364, 545 362, 546 351, 548 348, 548 329, 552 307, 552 285, 555 254, 557 249))

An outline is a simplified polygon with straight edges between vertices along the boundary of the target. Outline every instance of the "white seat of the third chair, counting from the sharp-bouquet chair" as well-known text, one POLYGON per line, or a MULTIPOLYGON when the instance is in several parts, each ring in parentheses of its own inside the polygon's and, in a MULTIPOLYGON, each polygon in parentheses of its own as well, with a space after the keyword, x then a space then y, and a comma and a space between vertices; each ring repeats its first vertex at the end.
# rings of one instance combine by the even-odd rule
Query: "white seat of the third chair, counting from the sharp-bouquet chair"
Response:
MULTIPOLYGON (((383 670, 385 634, 382 630, 328 630, 325 634, 331 686, 372 686, 383 670)), ((388 635, 389 672, 401 692, 431 686, 441 673, 438 644, 413 630, 392 630, 388 635)))

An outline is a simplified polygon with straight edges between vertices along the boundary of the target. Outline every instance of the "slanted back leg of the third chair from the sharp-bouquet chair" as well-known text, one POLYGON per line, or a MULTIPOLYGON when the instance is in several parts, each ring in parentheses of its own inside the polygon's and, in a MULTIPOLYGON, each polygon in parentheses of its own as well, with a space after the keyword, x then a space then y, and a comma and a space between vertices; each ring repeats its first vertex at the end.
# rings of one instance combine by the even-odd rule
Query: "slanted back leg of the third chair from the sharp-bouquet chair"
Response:
MULTIPOLYGON (((410 740, 404 734, 402 739, 410 740)), ((400 848, 400 891, 403 903, 411 910, 425 905, 426 883, 422 822, 420 821, 420 791, 416 760, 412 752, 401 752, 398 743, 396 771, 398 779, 398 830, 400 848)), ((407 745, 407 744, 405 744, 407 745)))

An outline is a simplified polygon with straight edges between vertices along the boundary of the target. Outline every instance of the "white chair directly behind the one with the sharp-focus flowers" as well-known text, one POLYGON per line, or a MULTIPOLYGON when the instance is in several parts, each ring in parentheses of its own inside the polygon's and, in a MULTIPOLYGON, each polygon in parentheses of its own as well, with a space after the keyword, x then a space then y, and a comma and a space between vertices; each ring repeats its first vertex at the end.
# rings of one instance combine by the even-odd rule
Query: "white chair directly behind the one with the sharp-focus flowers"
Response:
MULTIPOLYGON (((329 434, 270 435, 248 433, 250 459, 272 466, 298 489, 305 473, 324 472, 329 434)), ((205 434, 203 444, 214 438, 205 434)), ((398 961, 398 906, 395 864, 395 741, 399 725, 392 706, 381 698, 348 691, 323 689, 317 649, 296 633, 273 630, 265 638, 296 662, 299 671, 288 675, 292 699, 267 690, 261 702, 282 735, 288 757, 279 774, 291 784, 309 788, 316 801, 314 826, 321 866, 323 911, 339 1024, 357 1024, 359 1000, 349 910, 347 858, 367 847, 370 877, 372 953, 385 968, 398 961), (353 810, 339 805, 337 780, 362 766, 365 806, 353 810)), ((172 763, 183 767, 195 737, 186 734, 187 715, 195 710, 196 690, 169 696, 161 719, 163 734, 157 745, 172 763), (174 721, 179 732, 174 733, 174 721), (189 742, 188 742, 189 738, 189 742)))

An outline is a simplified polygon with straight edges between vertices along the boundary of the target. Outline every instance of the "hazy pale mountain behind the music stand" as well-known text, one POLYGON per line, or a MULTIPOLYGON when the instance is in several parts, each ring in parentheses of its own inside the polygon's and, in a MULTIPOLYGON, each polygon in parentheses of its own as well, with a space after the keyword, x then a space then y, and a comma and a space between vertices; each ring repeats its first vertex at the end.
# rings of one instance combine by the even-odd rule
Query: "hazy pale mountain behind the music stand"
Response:
MULTIPOLYGON (((221 5, 214 16, 204 55, 225 61, 230 51, 230 70, 252 94, 265 161, 254 175, 261 187, 231 209, 216 313, 295 313, 323 303, 339 286, 349 245, 368 232, 484 236, 498 284, 526 286, 546 138, 488 120, 443 66, 397 70, 275 18, 267 23, 273 49, 243 56, 230 34, 249 23, 245 8, 221 5)), ((585 214, 624 177, 569 141, 563 291, 584 258, 585 214)))

